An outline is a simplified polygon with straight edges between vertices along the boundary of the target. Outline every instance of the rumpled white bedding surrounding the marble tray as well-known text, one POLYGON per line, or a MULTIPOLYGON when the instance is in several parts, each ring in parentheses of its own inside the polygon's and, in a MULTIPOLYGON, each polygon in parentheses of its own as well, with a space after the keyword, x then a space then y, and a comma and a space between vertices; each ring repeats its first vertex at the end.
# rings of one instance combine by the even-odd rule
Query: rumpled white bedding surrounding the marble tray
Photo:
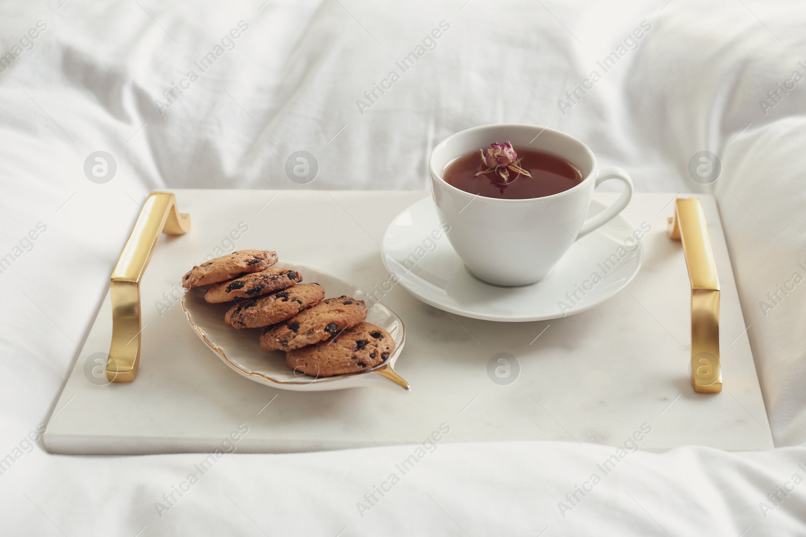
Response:
POLYGON ((13 462, 0 534, 806 534, 801 447, 637 452, 592 485, 613 448, 444 444, 374 505, 364 494, 412 446, 235 454, 160 517, 201 456, 51 456, 25 440, 52 411, 148 191, 426 188, 439 139, 526 122, 581 138, 639 190, 716 187, 776 445, 803 443, 806 283, 772 309, 759 302, 806 264, 806 82, 776 86, 806 76, 804 20, 794 1, 750 0, 6 3, 0 460, 13 462), (422 57, 404 72, 409 52, 422 57), (185 89, 168 99, 174 84, 185 89), (391 87, 370 101, 375 84, 391 87), (117 163, 107 184, 85 176, 93 151, 117 163), (318 160, 313 183, 286 176, 293 151, 318 160), (716 184, 689 176, 698 151, 720 155, 716 184), (577 485, 592 491, 573 498, 577 485))

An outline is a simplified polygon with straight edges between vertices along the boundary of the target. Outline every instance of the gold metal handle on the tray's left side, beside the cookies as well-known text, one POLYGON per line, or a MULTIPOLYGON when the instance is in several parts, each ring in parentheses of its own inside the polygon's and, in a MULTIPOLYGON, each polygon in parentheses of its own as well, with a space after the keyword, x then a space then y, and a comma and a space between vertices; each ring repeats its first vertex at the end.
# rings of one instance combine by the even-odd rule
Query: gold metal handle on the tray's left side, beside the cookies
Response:
POLYGON ((110 382, 131 382, 140 364, 140 279, 160 234, 182 235, 190 230, 190 215, 180 213, 173 192, 152 192, 112 272, 112 343, 106 360, 110 382))

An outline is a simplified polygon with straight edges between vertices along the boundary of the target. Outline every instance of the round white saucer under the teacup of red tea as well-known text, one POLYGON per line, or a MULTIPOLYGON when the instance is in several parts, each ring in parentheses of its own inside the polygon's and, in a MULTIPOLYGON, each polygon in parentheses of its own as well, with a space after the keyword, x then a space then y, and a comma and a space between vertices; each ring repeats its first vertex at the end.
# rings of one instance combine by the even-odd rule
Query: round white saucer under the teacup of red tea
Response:
MULTIPOLYGON (((605 205, 593 200, 588 217, 602 209, 605 205)), ((584 312, 621 291, 638 274, 643 258, 635 229, 619 215, 575 242, 546 279, 498 287, 467 271, 439 225, 434 201, 418 201, 386 229, 381 257, 418 299, 473 319, 521 322, 584 312)))

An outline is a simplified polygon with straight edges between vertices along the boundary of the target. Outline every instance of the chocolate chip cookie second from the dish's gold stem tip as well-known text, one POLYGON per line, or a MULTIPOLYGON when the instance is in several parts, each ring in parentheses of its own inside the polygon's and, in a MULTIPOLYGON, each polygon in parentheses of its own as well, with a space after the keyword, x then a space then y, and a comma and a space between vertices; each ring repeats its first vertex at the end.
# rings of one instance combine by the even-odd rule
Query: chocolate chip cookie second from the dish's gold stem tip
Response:
POLYGON ((364 300, 341 295, 324 299, 313 308, 297 313, 289 320, 260 334, 264 350, 293 350, 334 337, 367 317, 364 300))

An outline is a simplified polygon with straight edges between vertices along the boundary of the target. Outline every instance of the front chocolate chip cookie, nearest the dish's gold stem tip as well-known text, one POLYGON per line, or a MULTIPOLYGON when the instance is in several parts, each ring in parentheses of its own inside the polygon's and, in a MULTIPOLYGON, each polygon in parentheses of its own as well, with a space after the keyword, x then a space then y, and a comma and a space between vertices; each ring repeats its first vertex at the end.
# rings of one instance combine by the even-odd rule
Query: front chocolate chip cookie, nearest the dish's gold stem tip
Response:
POLYGON ((394 349, 395 341, 383 328, 360 323, 330 341, 285 353, 285 363, 313 377, 332 377, 377 366, 391 356, 394 349))

